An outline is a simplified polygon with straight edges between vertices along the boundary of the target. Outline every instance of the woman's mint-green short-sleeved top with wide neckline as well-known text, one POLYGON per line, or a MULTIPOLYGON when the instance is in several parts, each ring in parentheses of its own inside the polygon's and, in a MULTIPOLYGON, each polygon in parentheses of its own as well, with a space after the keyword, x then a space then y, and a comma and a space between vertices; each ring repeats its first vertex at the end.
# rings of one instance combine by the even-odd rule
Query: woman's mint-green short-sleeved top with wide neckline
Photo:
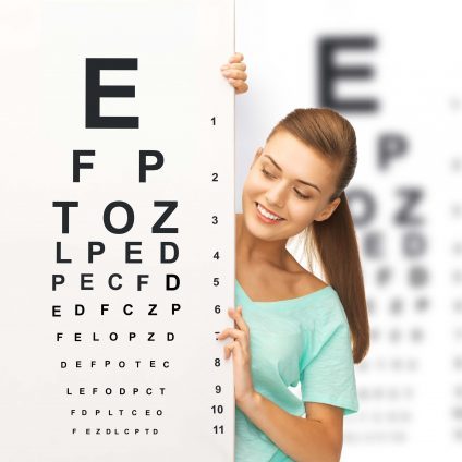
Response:
MULTIPOLYGON (((331 285, 296 299, 253 302, 235 280, 235 306, 251 332, 255 390, 302 416, 304 401, 358 411, 351 333, 331 285), (289 387, 300 382, 302 400, 289 387)), ((235 406, 236 462, 292 461, 235 406)))

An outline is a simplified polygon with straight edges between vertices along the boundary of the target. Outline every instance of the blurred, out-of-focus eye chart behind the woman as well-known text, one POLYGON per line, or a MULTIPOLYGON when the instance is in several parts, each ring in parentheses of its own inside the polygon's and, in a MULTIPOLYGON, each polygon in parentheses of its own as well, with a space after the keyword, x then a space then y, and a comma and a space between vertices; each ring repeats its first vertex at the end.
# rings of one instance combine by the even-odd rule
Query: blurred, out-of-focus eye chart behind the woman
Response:
MULTIPOLYGON (((356 131, 346 196, 370 349, 355 366, 360 412, 344 418, 342 461, 460 461, 460 2, 251 3, 236 2, 254 88, 236 99, 236 204, 254 146, 293 108, 331 107, 356 131)), ((303 258, 296 240, 290 248, 303 258)))

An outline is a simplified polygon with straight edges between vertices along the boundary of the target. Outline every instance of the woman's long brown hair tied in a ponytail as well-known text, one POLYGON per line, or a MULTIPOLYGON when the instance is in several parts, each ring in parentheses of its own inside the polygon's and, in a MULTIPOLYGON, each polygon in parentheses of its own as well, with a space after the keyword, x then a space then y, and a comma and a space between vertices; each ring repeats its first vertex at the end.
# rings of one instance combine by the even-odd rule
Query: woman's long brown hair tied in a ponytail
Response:
POLYGON ((340 197, 340 204, 327 220, 313 221, 302 235, 308 270, 313 272, 315 257, 324 278, 342 302, 350 325, 353 360, 360 363, 369 349, 369 321, 356 234, 344 193, 356 168, 356 134, 346 119, 329 108, 295 109, 272 129, 267 141, 279 131, 291 133, 339 167, 329 202, 340 197))

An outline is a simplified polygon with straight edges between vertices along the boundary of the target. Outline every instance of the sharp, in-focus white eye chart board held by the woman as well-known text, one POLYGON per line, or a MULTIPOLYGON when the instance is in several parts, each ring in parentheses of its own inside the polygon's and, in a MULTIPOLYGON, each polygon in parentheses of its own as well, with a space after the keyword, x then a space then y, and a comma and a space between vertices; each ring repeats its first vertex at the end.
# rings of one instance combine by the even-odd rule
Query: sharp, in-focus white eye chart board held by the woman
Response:
POLYGON ((0 460, 233 460, 234 2, 1 10, 0 460))

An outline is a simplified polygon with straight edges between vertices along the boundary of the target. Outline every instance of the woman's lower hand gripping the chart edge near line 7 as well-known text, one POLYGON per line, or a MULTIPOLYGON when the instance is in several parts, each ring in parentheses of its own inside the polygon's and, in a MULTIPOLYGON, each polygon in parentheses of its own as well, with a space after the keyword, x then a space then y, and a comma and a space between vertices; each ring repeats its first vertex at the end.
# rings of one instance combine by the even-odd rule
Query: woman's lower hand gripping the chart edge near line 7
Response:
POLYGON ((224 357, 232 354, 234 373, 234 397, 238 405, 252 399, 255 393, 251 372, 251 331, 242 317, 242 306, 229 308, 228 315, 234 319, 234 328, 229 327, 217 336, 223 340, 231 337, 234 341, 224 345, 224 357))

